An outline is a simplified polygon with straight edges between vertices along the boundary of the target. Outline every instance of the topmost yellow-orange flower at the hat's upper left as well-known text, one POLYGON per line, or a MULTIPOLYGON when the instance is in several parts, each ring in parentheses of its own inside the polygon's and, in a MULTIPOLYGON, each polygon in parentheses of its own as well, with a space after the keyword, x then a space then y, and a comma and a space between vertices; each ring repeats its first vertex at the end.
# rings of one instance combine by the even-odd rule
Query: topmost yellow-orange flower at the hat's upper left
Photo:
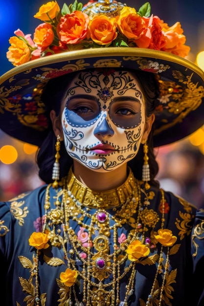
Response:
POLYGON ((54 19, 59 12, 60 7, 57 1, 49 1, 39 8, 39 12, 34 17, 44 22, 50 22, 50 19, 54 19))

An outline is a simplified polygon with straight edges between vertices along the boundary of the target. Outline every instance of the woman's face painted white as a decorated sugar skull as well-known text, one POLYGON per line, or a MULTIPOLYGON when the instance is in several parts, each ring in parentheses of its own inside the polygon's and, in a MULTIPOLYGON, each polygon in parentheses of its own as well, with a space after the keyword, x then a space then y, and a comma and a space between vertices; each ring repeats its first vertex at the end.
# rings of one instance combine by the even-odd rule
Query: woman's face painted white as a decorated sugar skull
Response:
POLYGON ((141 88, 128 71, 80 72, 62 104, 68 154, 97 172, 133 159, 145 126, 141 88))

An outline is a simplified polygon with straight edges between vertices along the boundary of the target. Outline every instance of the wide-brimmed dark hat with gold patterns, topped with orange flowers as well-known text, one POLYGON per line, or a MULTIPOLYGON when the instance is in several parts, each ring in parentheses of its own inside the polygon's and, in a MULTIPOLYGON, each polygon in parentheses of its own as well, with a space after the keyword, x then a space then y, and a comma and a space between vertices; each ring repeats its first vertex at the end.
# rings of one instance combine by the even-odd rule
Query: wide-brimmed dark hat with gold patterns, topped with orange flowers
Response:
POLYGON ((16 67, 0 77, 2 131, 40 147, 51 129, 41 100, 47 82, 74 71, 107 67, 155 74, 160 91, 155 147, 186 137, 204 124, 204 72, 181 57, 189 47, 179 22, 169 27, 157 16, 148 17, 149 3, 138 11, 106 2, 82 9, 75 1, 60 12, 56 5, 50 1, 35 15, 44 23, 36 28, 33 41, 21 30, 10 38, 7 57, 16 67))

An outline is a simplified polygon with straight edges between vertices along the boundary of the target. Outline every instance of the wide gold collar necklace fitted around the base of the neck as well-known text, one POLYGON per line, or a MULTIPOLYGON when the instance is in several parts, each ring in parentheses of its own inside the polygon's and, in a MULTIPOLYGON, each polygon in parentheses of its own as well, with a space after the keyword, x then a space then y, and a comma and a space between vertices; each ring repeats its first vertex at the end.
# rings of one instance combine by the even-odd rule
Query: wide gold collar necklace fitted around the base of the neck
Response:
POLYGON ((68 190, 82 205, 90 208, 110 209, 124 205, 136 189, 136 179, 130 168, 126 181, 118 188, 104 192, 92 191, 85 187, 70 168, 67 178, 68 190))

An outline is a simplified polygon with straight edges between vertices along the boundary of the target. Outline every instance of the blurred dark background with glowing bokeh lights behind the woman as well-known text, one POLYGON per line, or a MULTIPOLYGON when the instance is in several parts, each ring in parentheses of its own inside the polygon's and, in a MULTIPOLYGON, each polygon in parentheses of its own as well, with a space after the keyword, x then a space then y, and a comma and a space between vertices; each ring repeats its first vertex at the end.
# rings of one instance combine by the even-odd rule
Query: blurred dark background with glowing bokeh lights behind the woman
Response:
MULTIPOLYGON (((6 58, 9 38, 20 28, 32 34, 40 23, 33 18, 44 0, 6 0, 0 3, 0 75, 13 68, 6 58)), ((64 0, 57 1, 62 8, 64 0)), ((83 4, 87 1, 82 0, 83 4)), ((142 0, 127 0, 136 9, 142 0)), ((73 1, 66 1, 67 4, 73 1)), ((150 0, 151 12, 169 26, 181 22, 186 44, 191 47, 188 59, 204 70, 204 1, 150 0)), ((38 177, 35 163, 38 148, 7 136, 0 131, 0 200, 8 200, 32 190, 44 182, 38 177)), ((204 208, 204 127, 189 137, 155 149, 159 163, 160 186, 204 208)))

